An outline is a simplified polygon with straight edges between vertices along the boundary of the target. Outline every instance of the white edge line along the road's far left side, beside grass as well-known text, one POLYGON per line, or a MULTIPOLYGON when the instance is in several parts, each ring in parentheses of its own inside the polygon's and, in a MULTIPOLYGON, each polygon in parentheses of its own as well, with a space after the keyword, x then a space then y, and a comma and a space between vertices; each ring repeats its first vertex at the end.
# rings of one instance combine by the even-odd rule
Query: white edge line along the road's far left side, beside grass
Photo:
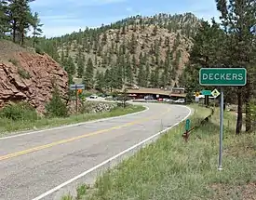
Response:
POLYGON ((122 117, 127 117, 127 116, 131 116, 131 115, 139 114, 139 113, 144 113, 144 112, 149 110, 149 107, 147 107, 145 105, 142 105, 142 106, 145 107, 146 109, 143 110, 143 111, 140 111, 140 112, 136 112, 136 113, 128 113, 128 114, 124 114, 124 115, 120 115, 120 116, 101 118, 101 119, 91 120, 91 121, 87 121, 87 122, 81 122, 81 123, 76 123, 76 124, 71 124, 71 125, 64 125, 64 126, 61 126, 61 127, 51 127, 51 128, 46 128, 46 129, 41 129, 41 130, 36 130, 36 131, 29 131, 29 132, 25 132, 25 133, 21 133, 21 134, 15 134, 15 132, 13 132, 13 133, 10 133, 10 134, 13 134, 13 135, 7 136, 7 137, 0 137, 0 140, 7 140, 7 139, 12 139, 12 138, 16 138, 16 137, 31 135, 31 134, 35 134, 35 133, 41 133, 41 132, 45 132, 45 131, 59 130, 59 129, 66 128, 66 127, 77 127, 77 126, 80 126, 80 125, 86 125, 86 124, 95 123, 95 122, 108 121, 108 120, 112 120, 112 119, 117 119, 117 118, 122 118, 122 117))

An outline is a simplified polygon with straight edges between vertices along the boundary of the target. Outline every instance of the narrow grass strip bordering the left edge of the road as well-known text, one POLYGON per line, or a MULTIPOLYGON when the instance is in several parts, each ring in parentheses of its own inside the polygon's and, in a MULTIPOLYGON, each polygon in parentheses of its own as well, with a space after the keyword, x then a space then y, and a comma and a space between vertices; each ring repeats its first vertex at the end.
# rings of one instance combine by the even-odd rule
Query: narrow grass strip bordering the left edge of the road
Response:
POLYGON ((18 120, 14 121, 7 118, 0 118, 0 137, 7 135, 9 132, 30 130, 47 127, 60 127, 63 125, 70 125, 80 122, 87 122, 90 120, 97 120, 101 118, 121 116, 128 113, 137 113, 143 111, 145 108, 141 105, 128 105, 126 108, 116 107, 110 112, 103 113, 84 113, 78 115, 71 115, 65 118, 39 118, 32 120, 18 120))

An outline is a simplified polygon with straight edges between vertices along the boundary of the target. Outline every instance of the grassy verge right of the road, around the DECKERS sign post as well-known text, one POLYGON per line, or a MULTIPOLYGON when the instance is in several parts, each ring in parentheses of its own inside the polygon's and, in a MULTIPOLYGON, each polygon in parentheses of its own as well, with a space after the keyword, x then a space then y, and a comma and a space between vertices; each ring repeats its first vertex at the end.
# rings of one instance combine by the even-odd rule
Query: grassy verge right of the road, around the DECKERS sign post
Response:
MULTIPOLYGON (((193 106, 192 125, 209 114, 193 106)), ((244 199, 256 196, 256 136, 235 136, 236 116, 224 113, 222 171, 218 171, 219 112, 182 140, 184 123, 104 172, 80 200, 244 199)), ((82 190, 82 189, 83 190, 82 190)), ((64 199, 64 197, 63 197, 64 199)))

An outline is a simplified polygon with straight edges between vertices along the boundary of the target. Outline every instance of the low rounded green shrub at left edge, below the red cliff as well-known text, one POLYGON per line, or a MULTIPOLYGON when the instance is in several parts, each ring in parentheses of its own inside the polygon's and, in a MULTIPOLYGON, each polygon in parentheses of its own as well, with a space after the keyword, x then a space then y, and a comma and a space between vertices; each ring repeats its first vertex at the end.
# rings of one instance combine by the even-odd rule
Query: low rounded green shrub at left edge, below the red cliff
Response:
POLYGON ((14 121, 34 121, 37 119, 37 113, 35 112, 35 109, 27 102, 19 102, 7 105, 1 110, 0 116, 2 118, 12 119, 14 121))

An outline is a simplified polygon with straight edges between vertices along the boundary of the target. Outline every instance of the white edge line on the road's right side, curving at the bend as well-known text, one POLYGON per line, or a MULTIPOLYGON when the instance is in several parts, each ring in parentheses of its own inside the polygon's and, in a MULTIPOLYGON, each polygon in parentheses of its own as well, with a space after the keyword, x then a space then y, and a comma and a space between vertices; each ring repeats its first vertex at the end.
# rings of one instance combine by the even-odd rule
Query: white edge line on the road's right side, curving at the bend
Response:
MULTIPOLYGON (((179 106, 182 106, 182 105, 179 105, 179 106)), ((64 187, 64 186, 66 186, 66 185, 68 185, 68 184, 74 182, 74 180, 78 180, 78 179, 80 179, 80 178, 86 176, 88 173, 94 171, 95 169, 97 169, 97 168, 99 168, 99 167, 102 167, 102 166, 108 164, 109 162, 115 160, 115 158, 117 158, 117 157, 119 157, 119 156, 121 156, 121 155, 123 155, 123 154, 125 154, 125 153, 128 153, 129 151, 131 151, 131 150, 133 150, 133 149, 135 149, 135 148, 141 146, 142 144, 144 144, 144 143, 147 142, 148 140, 152 140, 152 139, 154 139, 155 137, 159 136, 160 134, 162 134, 162 133, 168 131, 168 130, 171 129, 172 127, 176 127, 177 125, 179 125, 180 123, 182 123, 182 121, 184 121, 186 118, 188 118, 188 117, 190 116, 190 114, 192 113, 192 110, 191 110, 189 107, 187 107, 187 106, 182 106, 182 107, 185 107, 186 109, 188 109, 188 110, 189 110, 189 113, 188 113, 180 122, 178 122, 178 123, 174 124, 173 126, 168 127, 168 128, 166 128, 166 129, 164 129, 164 130, 162 130, 162 131, 156 133, 155 135, 153 135, 153 136, 151 136, 151 137, 149 137, 149 138, 147 138, 147 139, 145 139, 145 140, 142 140, 141 142, 139 142, 139 143, 137 143, 137 144, 135 144, 135 145, 129 147, 128 149, 124 150, 124 151, 121 152, 121 153, 115 154, 113 157, 111 157, 111 158, 109 158, 109 159, 103 161, 101 164, 99 164, 99 165, 97 165, 97 166, 95 166, 95 167, 89 168, 87 171, 85 171, 85 172, 83 172, 83 173, 77 175, 77 176, 74 177, 73 179, 67 180, 67 181, 61 183, 61 185, 58 185, 57 187, 55 187, 55 188, 53 188, 53 189, 47 191, 46 193, 42 193, 41 195, 35 197, 35 198, 32 199, 32 200, 40 200, 40 199, 46 197, 47 195, 49 195, 49 194, 51 194, 51 193, 54 193, 54 192, 60 190, 62 187, 64 187)))

